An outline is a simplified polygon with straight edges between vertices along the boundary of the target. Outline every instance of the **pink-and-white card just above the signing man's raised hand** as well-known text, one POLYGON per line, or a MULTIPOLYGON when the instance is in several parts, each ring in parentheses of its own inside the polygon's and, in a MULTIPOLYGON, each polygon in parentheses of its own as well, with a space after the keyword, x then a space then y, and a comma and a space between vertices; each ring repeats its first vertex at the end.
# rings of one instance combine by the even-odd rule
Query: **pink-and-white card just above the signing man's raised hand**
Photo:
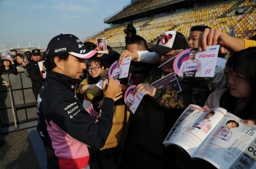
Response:
POLYGON ((128 77, 129 68, 131 63, 131 57, 125 58, 122 64, 119 65, 118 61, 112 63, 108 70, 108 76, 114 79, 121 79, 128 77))

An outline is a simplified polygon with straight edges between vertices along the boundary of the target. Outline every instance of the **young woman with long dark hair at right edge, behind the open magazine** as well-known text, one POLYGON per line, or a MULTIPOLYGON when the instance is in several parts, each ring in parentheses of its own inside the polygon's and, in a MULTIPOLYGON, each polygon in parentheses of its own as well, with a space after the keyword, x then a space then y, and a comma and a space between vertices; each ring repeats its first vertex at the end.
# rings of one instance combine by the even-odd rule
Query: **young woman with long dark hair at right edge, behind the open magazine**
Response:
POLYGON ((256 47, 234 53, 227 61, 228 88, 211 93, 204 108, 222 107, 243 119, 243 123, 255 124, 256 120, 256 47))

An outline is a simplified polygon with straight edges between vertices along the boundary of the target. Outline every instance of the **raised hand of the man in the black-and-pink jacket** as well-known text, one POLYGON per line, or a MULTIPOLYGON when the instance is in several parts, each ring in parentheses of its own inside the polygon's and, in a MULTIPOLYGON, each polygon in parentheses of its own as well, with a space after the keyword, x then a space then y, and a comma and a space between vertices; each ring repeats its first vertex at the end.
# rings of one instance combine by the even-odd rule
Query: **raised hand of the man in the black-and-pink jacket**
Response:
POLYGON ((102 91, 104 94, 104 97, 110 97, 111 99, 115 100, 116 96, 119 95, 120 87, 119 84, 111 77, 108 77, 108 79, 104 80, 102 83, 102 91))

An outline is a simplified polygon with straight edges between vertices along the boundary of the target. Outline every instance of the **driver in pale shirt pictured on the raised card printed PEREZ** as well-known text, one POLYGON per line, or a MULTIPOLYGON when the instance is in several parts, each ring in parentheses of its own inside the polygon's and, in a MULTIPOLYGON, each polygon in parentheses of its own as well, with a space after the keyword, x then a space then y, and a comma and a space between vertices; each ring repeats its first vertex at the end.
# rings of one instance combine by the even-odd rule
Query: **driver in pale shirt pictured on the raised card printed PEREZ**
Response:
POLYGON ((201 75, 201 62, 196 59, 198 49, 192 48, 189 52, 188 61, 184 61, 180 66, 180 77, 200 77, 201 75))

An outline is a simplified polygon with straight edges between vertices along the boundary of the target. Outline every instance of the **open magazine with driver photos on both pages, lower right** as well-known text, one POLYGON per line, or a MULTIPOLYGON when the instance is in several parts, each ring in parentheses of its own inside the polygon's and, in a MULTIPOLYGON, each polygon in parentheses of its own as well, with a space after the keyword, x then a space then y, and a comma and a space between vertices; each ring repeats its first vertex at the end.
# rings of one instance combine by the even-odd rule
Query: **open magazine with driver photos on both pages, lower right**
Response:
POLYGON ((183 111, 163 144, 178 145, 191 158, 216 168, 256 168, 256 125, 246 125, 224 108, 203 110, 191 104, 183 111))

